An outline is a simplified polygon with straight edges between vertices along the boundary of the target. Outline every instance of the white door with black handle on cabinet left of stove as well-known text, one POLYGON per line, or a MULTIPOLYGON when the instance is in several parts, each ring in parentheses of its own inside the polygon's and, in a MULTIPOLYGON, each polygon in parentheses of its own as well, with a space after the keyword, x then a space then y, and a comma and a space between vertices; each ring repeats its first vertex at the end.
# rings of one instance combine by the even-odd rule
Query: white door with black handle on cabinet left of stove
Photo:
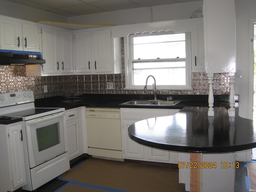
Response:
POLYGON ((9 144, 14 188, 26 183, 25 159, 23 150, 22 125, 10 127, 9 144))

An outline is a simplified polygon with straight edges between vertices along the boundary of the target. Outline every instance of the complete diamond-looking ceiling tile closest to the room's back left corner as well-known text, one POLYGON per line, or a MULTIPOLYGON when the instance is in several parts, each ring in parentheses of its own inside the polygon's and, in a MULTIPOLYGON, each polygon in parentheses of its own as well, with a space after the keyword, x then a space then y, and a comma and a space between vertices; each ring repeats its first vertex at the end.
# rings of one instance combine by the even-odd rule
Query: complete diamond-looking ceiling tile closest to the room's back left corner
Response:
POLYGON ((59 10, 75 14, 75 15, 81 15, 81 14, 90 14, 94 12, 102 12, 104 10, 97 8, 95 6, 92 6, 90 4, 82 4, 77 6, 70 6, 70 7, 64 7, 59 8, 59 10))

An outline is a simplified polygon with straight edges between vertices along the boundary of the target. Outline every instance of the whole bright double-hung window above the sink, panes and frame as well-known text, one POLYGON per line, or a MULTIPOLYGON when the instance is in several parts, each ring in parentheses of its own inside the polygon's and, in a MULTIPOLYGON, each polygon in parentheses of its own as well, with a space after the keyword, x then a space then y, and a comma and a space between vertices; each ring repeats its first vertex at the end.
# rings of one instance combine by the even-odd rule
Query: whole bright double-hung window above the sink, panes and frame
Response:
MULTIPOLYGON (((192 88, 190 32, 132 34, 128 41, 126 88, 143 89, 149 75, 158 90, 192 88)), ((148 89, 153 83, 149 78, 148 89)))

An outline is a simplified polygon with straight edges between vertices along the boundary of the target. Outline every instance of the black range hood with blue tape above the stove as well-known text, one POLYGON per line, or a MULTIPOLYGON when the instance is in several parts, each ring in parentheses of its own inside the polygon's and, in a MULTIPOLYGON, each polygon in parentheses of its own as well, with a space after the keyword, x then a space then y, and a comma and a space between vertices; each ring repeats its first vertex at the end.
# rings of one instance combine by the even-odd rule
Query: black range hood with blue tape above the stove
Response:
POLYGON ((44 64, 40 52, 1 52, 0 65, 44 64))

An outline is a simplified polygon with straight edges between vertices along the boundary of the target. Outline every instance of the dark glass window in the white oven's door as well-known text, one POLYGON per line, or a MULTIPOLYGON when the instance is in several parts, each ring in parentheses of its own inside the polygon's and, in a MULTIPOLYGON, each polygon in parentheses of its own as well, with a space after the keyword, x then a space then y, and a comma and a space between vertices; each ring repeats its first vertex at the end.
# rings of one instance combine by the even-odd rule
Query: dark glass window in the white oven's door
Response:
POLYGON ((59 123, 36 129, 38 151, 43 151, 60 143, 59 123))

